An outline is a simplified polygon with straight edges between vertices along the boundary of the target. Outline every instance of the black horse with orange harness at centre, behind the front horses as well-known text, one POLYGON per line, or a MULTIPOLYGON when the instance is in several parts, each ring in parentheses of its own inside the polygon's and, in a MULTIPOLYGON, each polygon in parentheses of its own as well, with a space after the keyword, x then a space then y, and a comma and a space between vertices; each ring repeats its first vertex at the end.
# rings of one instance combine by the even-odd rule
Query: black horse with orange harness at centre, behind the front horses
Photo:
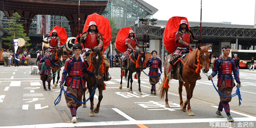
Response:
MULTIPOLYGON (((122 59, 121 59, 122 60, 122 59)), ((140 72, 141 70, 143 70, 143 67, 146 66, 146 64, 144 64, 146 60, 146 56, 144 54, 144 52, 141 52, 140 50, 136 50, 135 52, 131 53, 129 55, 129 61, 128 61, 128 69, 125 69, 125 79, 127 80, 127 74, 129 72, 128 75, 128 81, 127 81, 127 90, 130 91, 130 93, 132 92, 132 73, 136 72, 137 76, 138 76, 138 84, 139 84, 139 94, 142 94, 141 89, 140 89, 140 72), (131 83, 131 86, 129 88, 129 81, 131 83)), ((135 74, 135 78, 136 78, 136 74, 135 74)), ((122 70, 121 70, 121 82, 120 82, 120 86, 119 89, 122 89, 122 70)))

